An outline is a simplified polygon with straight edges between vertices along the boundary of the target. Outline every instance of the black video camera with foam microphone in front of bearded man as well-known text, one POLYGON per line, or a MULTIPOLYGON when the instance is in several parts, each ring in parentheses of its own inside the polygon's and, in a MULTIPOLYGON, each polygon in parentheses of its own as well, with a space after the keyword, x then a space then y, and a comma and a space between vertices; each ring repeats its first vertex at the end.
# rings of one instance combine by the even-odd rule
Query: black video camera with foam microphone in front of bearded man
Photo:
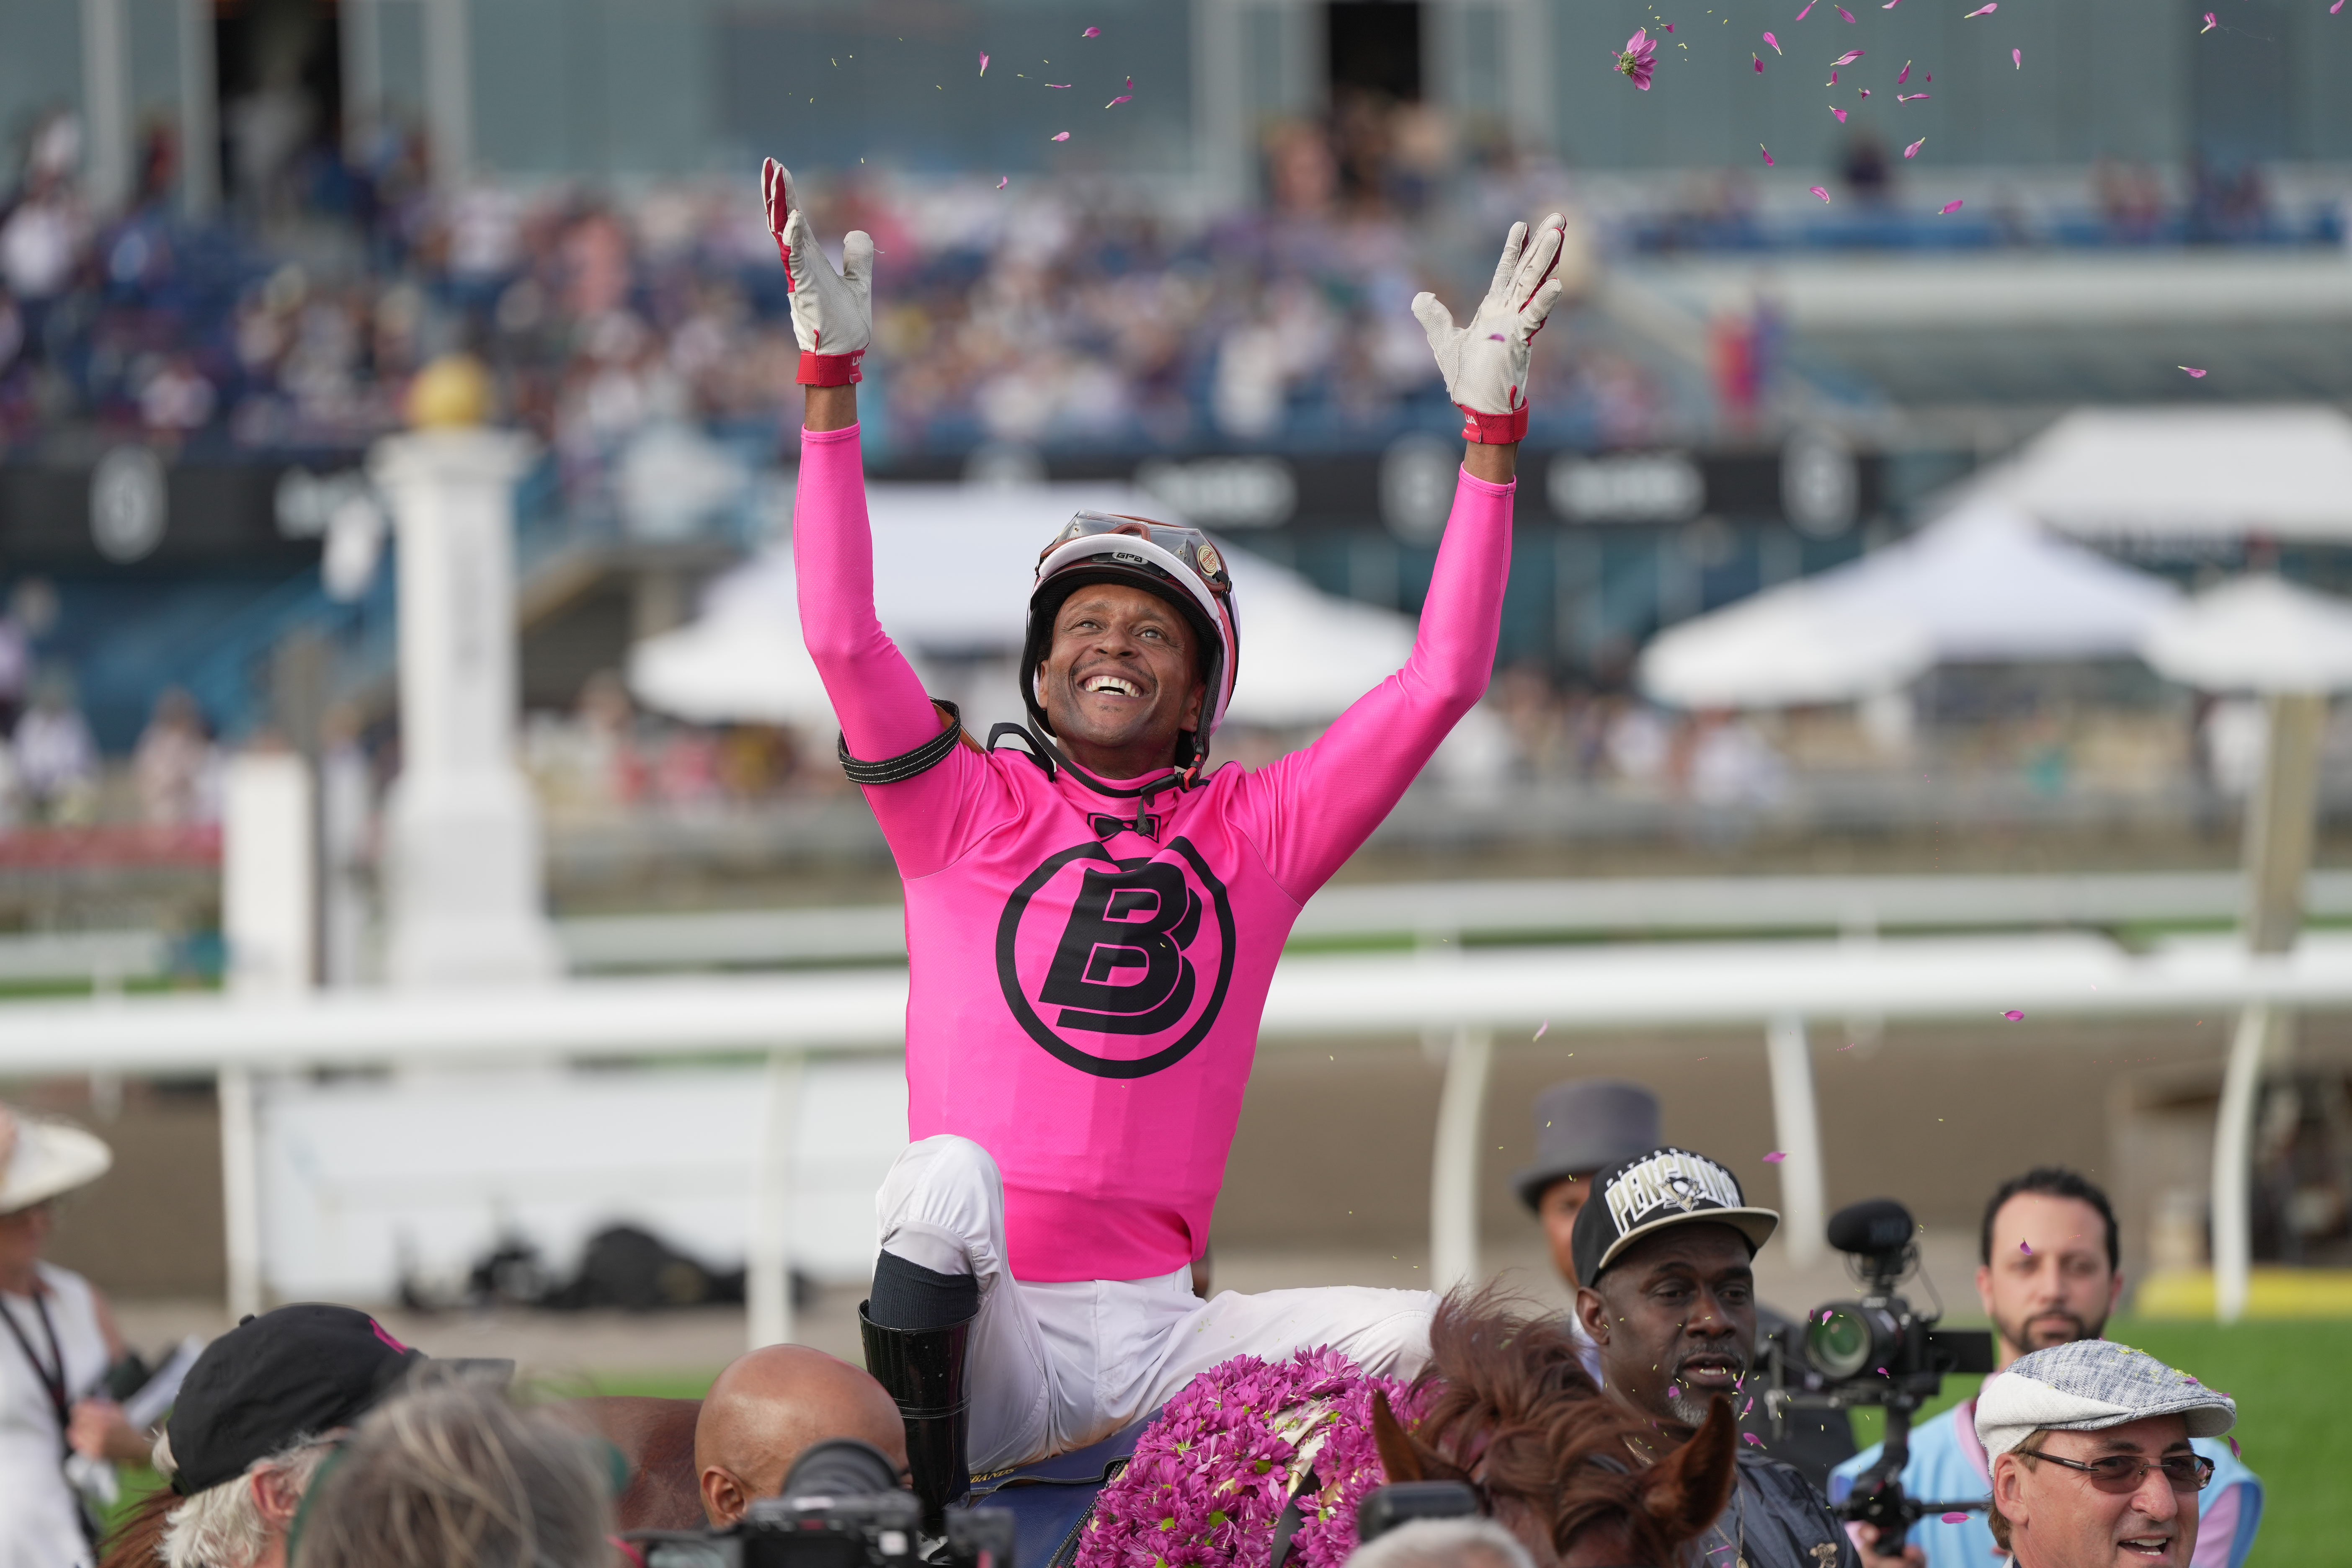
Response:
MULTIPOLYGON (((1773 1429, 1792 1408, 1846 1410, 1886 1406, 1886 1448, 1853 1481, 1853 1493, 1830 1512, 1875 1526, 1882 1542, 1900 1542, 1926 1514, 1983 1509, 1978 1502, 1919 1502, 1903 1495, 1912 1415, 1952 1373, 1990 1373, 1992 1335, 1983 1328, 1936 1328, 1936 1312, 1919 1312, 1896 1286, 1919 1267, 1919 1227, 1893 1199, 1849 1204, 1830 1215, 1830 1246, 1863 1286, 1860 1300, 1813 1307, 1785 1328, 1769 1356, 1764 1408, 1773 1429)), ((1919 1276, 1929 1284, 1926 1276, 1919 1276)), ((1929 1286, 1933 1291, 1933 1286, 1929 1286)))

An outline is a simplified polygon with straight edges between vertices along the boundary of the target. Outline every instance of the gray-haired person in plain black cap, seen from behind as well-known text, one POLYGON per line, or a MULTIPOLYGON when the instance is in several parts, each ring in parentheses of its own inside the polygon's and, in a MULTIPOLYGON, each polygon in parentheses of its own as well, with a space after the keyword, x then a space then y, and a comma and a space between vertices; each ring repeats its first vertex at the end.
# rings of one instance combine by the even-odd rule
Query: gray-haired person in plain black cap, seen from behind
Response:
MULTIPOLYGON (((205 1347, 155 1462, 169 1568, 285 1568, 287 1528, 341 1432, 423 1361, 355 1307, 299 1302, 205 1347)), ((466 1363, 461 1363, 466 1366, 466 1363)), ((513 1375, 510 1361, 475 1363, 513 1375)))

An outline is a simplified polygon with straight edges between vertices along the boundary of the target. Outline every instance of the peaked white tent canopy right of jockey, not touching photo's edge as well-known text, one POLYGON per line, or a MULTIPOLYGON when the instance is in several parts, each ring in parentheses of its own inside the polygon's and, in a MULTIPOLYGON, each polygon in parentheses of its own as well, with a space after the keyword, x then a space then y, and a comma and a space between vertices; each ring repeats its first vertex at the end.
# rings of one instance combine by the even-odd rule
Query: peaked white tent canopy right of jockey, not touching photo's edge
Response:
POLYGON ((1677 708, 1849 703, 1933 663, 2114 658, 2178 602, 1980 494, 1917 536, 1661 632, 1642 689, 1677 708))

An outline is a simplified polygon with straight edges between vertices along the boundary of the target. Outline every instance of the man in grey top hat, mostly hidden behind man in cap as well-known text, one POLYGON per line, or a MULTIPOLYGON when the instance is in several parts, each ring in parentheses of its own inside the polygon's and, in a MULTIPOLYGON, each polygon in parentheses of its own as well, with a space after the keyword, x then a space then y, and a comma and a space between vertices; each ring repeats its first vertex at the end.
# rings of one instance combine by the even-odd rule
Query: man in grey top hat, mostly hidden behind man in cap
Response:
MULTIPOLYGON (((1639 1084, 1618 1079, 1569 1079, 1552 1084, 1536 1095, 1536 1164, 1512 1178, 1519 1201, 1543 1222, 1543 1239, 1552 1248, 1552 1267, 1573 1291, 1576 1279, 1576 1215, 1583 1213, 1592 1192, 1592 1175, 1602 1166, 1632 1159, 1665 1143, 1658 1135, 1658 1095, 1639 1084)), ((1576 1328, 1585 1371, 1595 1380, 1602 1375, 1599 1352, 1576 1328)), ((1757 1302, 1757 1333, 1769 1340, 1790 1321, 1757 1302)), ((1745 1403, 1745 1401, 1743 1401, 1745 1403)), ((1816 1488, 1830 1483, 1830 1467, 1853 1458, 1853 1422, 1844 1410, 1792 1410, 1776 1434, 1764 1406, 1748 1408, 1740 1432, 1755 1434, 1776 1460, 1795 1465, 1816 1488)))

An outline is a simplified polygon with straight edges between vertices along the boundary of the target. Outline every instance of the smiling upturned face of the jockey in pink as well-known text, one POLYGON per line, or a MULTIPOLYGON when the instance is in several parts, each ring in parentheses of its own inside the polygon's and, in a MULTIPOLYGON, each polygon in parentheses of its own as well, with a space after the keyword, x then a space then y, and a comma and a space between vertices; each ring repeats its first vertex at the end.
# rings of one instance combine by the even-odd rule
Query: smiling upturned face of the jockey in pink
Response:
POLYGON ((1207 686, 1192 623, 1155 592, 1087 583, 1054 616, 1037 693, 1070 759, 1105 778, 1136 778, 1176 757, 1200 729, 1207 686))

